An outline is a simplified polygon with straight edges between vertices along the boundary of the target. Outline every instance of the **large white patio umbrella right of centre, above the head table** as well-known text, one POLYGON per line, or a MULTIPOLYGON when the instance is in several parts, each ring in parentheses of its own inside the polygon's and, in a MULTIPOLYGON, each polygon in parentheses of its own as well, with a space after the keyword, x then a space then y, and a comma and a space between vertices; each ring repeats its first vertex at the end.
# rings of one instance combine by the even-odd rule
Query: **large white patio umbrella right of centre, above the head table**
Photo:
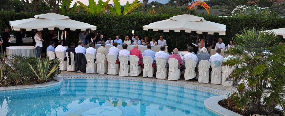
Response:
POLYGON ((218 32, 220 35, 226 35, 226 25, 220 23, 214 23, 211 21, 205 21, 203 17, 197 17, 190 14, 183 14, 171 17, 163 21, 157 21, 143 26, 143 30, 153 29, 153 31, 163 30, 169 32, 185 32, 196 31, 197 33, 208 32, 208 34, 214 34, 218 32))

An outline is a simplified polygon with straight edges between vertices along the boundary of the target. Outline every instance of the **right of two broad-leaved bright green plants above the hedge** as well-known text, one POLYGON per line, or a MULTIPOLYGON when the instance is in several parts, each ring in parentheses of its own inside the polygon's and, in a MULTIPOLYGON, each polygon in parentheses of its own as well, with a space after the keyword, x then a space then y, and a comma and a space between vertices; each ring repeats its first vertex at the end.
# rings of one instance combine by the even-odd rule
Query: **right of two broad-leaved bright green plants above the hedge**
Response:
POLYGON ((129 1, 127 1, 126 6, 124 8, 124 11, 122 13, 121 10, 121 4, 119 2, 119 0, 113 0, 114 2, 114 6, 115 8, 112 8, 111 6, 108 8, 113 14, 116 15, 126 15, 129 14, 131 12, 133 12, 133 10, 135 10, 136 8, 138 8, 139 6, 143 5, 142 3, 138 3, 138 0, 134 1, 133 3, 131 3, 129 5, 129 1))

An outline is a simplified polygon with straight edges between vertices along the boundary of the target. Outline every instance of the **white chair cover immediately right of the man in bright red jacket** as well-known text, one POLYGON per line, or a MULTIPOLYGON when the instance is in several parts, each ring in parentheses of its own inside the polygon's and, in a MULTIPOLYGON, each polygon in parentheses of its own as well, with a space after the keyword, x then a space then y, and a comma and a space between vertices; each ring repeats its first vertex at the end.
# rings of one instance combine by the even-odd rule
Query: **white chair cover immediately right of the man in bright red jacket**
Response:
POLYGON ((143 57, 143 77, 153 77, 153 67, 152 67, 153 59, 150 56, 143 57))

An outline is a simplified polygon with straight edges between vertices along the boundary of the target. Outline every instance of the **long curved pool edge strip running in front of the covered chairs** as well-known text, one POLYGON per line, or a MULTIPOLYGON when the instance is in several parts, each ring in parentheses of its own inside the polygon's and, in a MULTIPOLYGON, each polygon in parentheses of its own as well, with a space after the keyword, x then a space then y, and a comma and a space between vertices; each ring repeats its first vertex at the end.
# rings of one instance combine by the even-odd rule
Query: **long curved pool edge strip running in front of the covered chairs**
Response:
POLYGON ((116 76, 116 77, 109 77, 109 76, 58 76, 61 77, 62 79, 118 79, 118 80, 130 80, 130 81, 143 81, 143 82, 151 82, 151 83, 158 83, 158 84, 168 84, 172 86, 180 86, 180 87, 185 87, 185 88, 191 88, 191 89, 196 89, 200 91, 205 91, 217 95, 226 95, 229 93, 228 91, 223 91, 223 90, 218 90, 214 88, 208 88, 204 86, 199 86, 199 85, 193 85, 193 84, 186 84, 186 83, 181 83, 181 82, 176 82, 176 81, 169 81, 167 79, 152 79, 152 78, 138 78, 138 77, 122 77, 122 76, 116 76))

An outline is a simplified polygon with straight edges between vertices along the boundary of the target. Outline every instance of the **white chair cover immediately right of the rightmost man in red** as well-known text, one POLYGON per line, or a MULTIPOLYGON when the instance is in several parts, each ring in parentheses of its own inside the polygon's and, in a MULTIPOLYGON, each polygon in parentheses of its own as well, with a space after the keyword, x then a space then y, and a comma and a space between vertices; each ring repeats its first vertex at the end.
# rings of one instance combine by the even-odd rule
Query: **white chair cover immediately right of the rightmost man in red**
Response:
POLYGON ((184 72, 184 81, 187 81, 189 79, 193 79, 196 77, 195 73, 195 67, 197 62, 193 59, 187 59, 185 60, 185 72, 184 72))

